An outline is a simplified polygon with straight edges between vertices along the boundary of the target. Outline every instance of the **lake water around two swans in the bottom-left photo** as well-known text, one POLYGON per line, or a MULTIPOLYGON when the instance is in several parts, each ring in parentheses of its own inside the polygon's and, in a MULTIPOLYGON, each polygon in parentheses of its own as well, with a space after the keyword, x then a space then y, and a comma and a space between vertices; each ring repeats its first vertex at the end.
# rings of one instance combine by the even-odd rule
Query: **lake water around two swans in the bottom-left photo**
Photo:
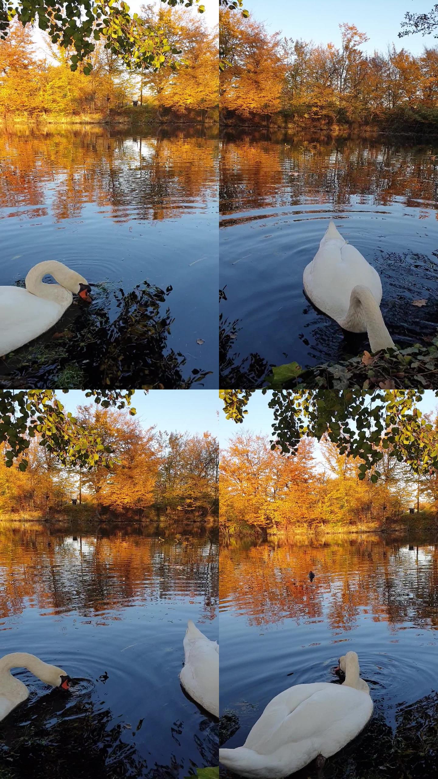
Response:
POLYGON ((0 525, 0 654, 27 651, 72 677, 28 671, 30 698, 2 723, 5 779, 184 777, 217 765, 217 722, 178 674, 188 619, 217 640, 217 545, 161 528, 80 534, 0 525), (162 540, 161 540, 162 539, 162 540))

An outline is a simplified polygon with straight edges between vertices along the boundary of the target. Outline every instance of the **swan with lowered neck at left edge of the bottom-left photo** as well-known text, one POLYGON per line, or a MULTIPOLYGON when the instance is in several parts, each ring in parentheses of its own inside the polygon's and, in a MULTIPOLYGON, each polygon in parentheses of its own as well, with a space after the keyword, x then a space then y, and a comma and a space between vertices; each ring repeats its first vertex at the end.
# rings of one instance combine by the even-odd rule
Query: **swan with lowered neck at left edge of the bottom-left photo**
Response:
POLYGON ((57 668, 39 660, 34 654, 27 652, 14 652, 5 654, 0 658, 0 721, 3 720, 12 709, 29 697, 29 690, 23 682, 16 679, 10 673, 11 668, 27 668, 32 674, 41 679, 41 682, 52 687, 69 689, 70 677, 57 668))

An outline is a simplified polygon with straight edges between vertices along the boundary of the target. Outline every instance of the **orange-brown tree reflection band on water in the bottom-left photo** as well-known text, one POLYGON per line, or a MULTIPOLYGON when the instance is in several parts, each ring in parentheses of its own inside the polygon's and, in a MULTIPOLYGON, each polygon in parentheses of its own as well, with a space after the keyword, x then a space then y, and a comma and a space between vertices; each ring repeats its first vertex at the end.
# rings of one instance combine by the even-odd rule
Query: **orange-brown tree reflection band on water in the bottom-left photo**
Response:
POLYGON ((0 619, 31 605, 44 612, 76 611, 115 619, 129 605, 157 598, 185 598, 203 605, 214 619, 217 602, 217 546, 206 538, 159 541, 120 531, 50 535, 41 527, 2 523, 0 619))

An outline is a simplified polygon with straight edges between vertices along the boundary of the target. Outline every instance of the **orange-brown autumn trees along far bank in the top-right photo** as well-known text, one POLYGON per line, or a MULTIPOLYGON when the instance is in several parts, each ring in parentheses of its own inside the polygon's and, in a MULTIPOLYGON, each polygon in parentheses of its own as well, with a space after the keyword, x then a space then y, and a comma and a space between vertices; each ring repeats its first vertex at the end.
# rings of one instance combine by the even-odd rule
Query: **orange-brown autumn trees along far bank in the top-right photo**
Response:
POLYGON ((366 32, 339 28, 339 46, 294 40, 221 9, 221 129, 438 133, 438 48, 369 54, 366 32))

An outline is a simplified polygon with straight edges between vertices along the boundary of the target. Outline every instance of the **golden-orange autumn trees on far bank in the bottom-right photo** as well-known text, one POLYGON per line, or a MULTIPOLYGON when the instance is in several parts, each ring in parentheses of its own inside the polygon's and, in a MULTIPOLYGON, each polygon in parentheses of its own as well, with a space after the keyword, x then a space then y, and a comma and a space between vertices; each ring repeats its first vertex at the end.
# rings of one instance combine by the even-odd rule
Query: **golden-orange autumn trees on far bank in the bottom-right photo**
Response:
MULTIPOLYGON (((430 420, 434 430, 437 420, 430 420)), ((378 471, 363 478, 363 461, 341 454, 327 435, 316 459, 308 437, 286 454, 271 449, 266 435, 235 434, 221 453, 221 538, 438 532, 436 471, 415 474, 389 442, 379 452, 378 471)))

